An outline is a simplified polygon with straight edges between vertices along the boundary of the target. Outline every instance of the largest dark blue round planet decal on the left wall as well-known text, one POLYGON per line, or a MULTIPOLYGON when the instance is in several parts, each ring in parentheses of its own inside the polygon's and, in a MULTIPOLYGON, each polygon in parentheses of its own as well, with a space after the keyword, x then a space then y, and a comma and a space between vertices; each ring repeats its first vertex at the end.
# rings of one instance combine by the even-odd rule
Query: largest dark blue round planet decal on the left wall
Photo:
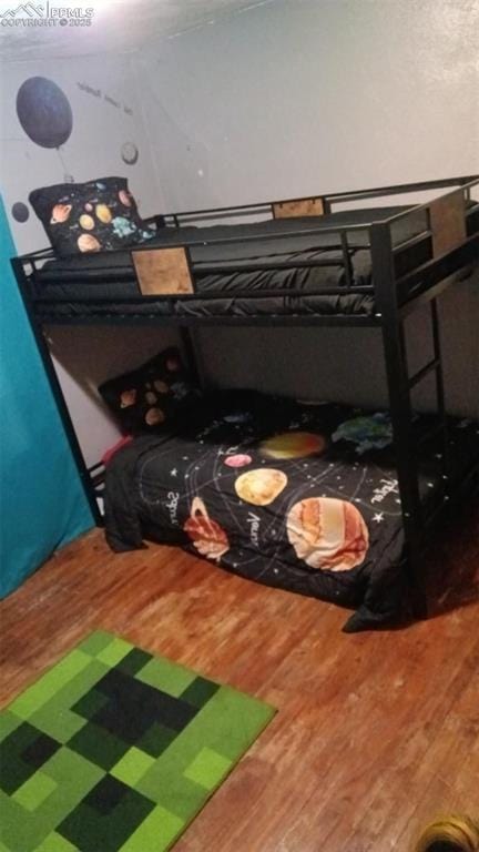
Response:
POLYGON ((59 148, 70 136, 73 113, 53 80, 30 77, 17 93, 17 115, 24 132, 41 148, 59 148))

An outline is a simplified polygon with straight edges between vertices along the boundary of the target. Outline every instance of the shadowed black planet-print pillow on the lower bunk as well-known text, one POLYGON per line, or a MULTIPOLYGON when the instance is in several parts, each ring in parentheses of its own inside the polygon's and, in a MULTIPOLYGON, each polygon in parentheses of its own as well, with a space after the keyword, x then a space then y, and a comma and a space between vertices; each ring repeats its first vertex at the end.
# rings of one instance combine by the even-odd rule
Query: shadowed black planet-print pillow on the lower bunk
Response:
POLYGON ((174 427, 200 396, 174 346, 104 382, 99 393, 128 435, 174 427))

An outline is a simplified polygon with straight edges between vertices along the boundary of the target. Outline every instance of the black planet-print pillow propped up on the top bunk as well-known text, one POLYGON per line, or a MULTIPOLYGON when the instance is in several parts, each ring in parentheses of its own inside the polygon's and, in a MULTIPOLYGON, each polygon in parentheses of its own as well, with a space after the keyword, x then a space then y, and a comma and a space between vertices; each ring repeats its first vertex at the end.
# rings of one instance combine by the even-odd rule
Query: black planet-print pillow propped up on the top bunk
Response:
POLYGON ((154 235, 125 178, 44 186, 33 190, 29 201, 61 256, 124 248, 154 235))

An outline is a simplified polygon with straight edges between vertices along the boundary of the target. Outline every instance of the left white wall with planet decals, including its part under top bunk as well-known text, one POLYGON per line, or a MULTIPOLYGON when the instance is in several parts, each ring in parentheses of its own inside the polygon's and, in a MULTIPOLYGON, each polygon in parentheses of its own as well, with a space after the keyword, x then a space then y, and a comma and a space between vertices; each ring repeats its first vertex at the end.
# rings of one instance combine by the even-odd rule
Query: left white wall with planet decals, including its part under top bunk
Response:
MULTIPOLYGON (((162 207, 129 55, 9 62, 2 69, 1 85, 1 191, 19 253, 44 247, 48 239, 31 207, 29 220, 19 223, 11 215, 11 206, 19 201, 28 204, 28 195, 35 187, 62 183, 65 172, 78 182, 123 175, 143 215, 162 207), (72 108, 72 133, 60 153, 34 144, 17 116, 20 85, 38 75, 58 83, 72 108), (128 141, 139 150, 134 165, 125 164, 121 158, 122 144, 128 141)), ((172 335, 160 329, 140 332, 108 326, 52 327, 49 334, 86 463, 93 464, 119 437, 115 424, 95 394, 96 385, 140 364, 162 348, 163 342, 167 344, 172 335)))

